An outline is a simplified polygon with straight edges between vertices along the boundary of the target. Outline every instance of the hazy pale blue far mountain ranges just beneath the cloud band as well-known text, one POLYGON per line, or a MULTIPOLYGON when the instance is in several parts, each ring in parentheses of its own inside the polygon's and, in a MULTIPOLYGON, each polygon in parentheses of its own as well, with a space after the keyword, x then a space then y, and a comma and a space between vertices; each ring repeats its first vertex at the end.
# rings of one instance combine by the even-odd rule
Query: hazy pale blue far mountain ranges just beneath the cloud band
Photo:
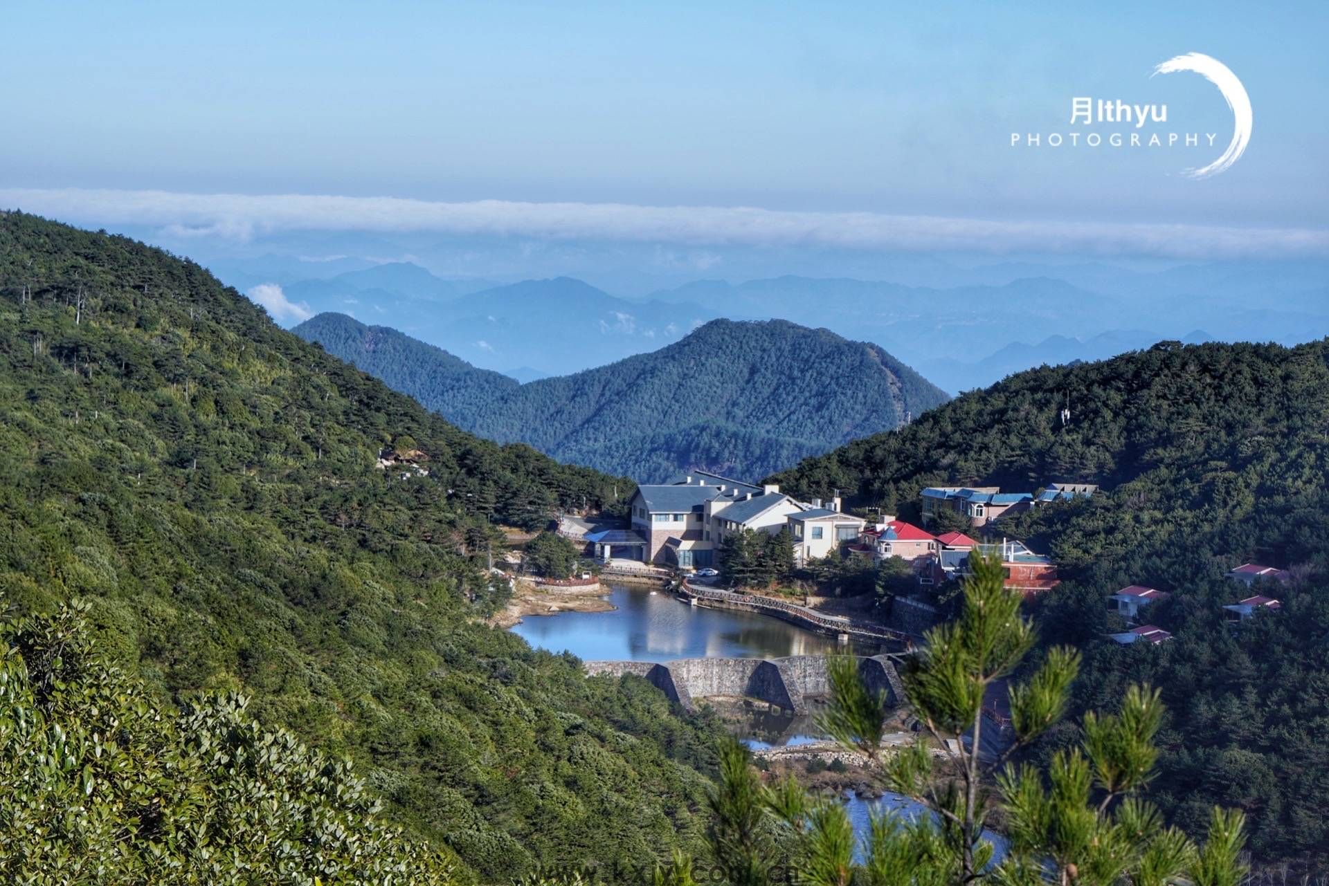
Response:
POLYGON ((1007 263, 941 278, 948 286, 793 275, 694 280, 621 298, 566 276, 496 286, 389 263, 286 283, 284 291, 312 312, 381 323, 522 381, 654 351, 719 317, 784 319, 873 341, 950 393, 1160 340, 1296 344, 1329 333, 1329 271, 1317 262, 1164 271, 1007 263), (993 282, 956 283, 975 278, 993 282))

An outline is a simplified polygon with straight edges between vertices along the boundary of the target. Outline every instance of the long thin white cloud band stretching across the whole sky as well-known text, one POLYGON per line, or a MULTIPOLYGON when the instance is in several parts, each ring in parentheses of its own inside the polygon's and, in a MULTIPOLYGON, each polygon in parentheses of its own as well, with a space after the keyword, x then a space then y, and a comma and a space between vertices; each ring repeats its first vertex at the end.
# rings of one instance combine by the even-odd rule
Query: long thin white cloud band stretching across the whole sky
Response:
POLYGON ((429 231, 557 240, 886 251, 1065 252, 1177 259, 1329 255, 1329 231, 1195 224, 1031 222, 623 203, 444 203, 395 197, 0 189, 0 206, 175 236, 280 231, 429 231))

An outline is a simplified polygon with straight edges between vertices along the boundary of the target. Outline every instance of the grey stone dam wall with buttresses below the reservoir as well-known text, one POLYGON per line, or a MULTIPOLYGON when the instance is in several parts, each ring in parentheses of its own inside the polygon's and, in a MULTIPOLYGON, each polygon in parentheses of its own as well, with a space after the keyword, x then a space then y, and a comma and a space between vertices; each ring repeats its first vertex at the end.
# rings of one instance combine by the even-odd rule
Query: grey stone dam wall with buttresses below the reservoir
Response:
MULTIPOLYGON (((885 655, 857 658, 859 675, 872 692, 884 692, 898 707, 904 685, 894 662, 885 655)), ((671 701, 695 711, 695 699, 734 696, 759 699, 793 713, 807 713, 808 700, 831 692, 824 655, 783 659, 678 659, 675 662, 586 662, 586 673, 646 679, 671 701)))

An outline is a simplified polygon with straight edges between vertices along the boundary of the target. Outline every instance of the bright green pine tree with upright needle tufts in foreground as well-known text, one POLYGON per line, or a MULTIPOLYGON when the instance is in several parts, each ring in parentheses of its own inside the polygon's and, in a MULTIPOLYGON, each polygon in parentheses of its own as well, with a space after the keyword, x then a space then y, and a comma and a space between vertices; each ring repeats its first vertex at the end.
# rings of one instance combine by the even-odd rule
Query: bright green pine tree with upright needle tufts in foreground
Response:
POLYGON ((1215 808, 1208 840, 1197 846, 1138 796, 1158 757, 1156 692, 1135 687, 1119 713, 1087 715, 1082 747, 1058 753, 1046 773, 1010 765, 1009 756, 1066 709, 1079 656, 1055 648, 1009 689, 1013 743, 1002 752, 983 744, 987 688, 1014 672, 1034 635, 1019 596, 1002 586, 997 559, 975 555, 964 590, 961 616, 928 634, 904 675, 908 704, 932 744, 884 744, 884 695, 868 689, 852 656, 828 662, 832 701, 820 725, 876 764, 880 786, 933 816, 874 816, 859 862, 843 802, 792 781, 759 789, 734 743, 711 802, 711 851, 726 881, 769 886, 787 862, 812 886, 1236 886, 1245 874, 1240 812, 1215 808), (994 809, 1010 837, 1002 859, 983 837, 994 809))

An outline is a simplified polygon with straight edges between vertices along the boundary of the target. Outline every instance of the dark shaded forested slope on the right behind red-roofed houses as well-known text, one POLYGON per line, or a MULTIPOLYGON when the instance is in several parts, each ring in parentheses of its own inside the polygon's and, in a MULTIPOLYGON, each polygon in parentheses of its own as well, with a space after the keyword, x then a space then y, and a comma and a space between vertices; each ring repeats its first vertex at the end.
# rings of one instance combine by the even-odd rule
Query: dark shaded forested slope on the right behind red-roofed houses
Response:
POLYGON ((1087 651, 1080 703, 1160 687, 1172 715, 1152 790, 1174 820, 1199 830, 1209 805, 1240 806, 1259 857, 1329 862, 1329 340, 1166 343, 1019 373, 775 480, 906 518, 926 485, 1103 485, 993 526, 1069 579, 1038 615, 1045 640, 1087 651), (1248 561, 1293 578, 1257 588, 1281 611, 1233 628, 1221 606, 1253 591, 1224 573, 1248 561), (1174 640, 1106 639, 1122 628, 1104 600, 1128 584, 1172 592, 1148 620, 1174 640))

